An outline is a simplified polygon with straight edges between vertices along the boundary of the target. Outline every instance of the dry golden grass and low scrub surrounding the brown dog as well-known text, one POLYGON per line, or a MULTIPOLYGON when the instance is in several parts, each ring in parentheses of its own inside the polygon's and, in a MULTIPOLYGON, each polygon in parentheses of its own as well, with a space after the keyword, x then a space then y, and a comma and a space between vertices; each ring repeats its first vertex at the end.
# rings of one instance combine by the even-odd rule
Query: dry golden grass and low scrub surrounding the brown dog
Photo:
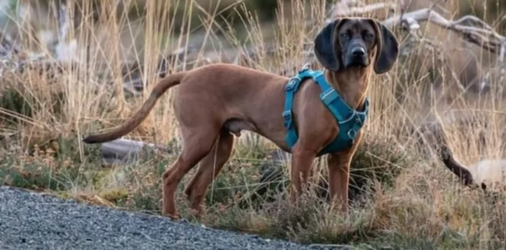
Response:
MULTIPOLYGON (((293 69, 287 73, 293 74, 294 69, 304 65, 303 43, 311 41, 323 22, 320 2, 314 1, 311 6, 293 2, 284 8, 285 13, 278 14, 270 29, 274 30, 271 34, 277 46, 275 55, 261 55, 252 67, 271 72, 287 67, 293 69), (301 28, 306 20, 316 24, 301 28)), ((124 22, 118 25, 118 20, 104 19, 96 27, 76 32, 79 38, 92 38, 88 39, 95 48, 90 69, 68 69, 52 77, 41 75, 38 70, 5 72, 0 79, 0 183, 101 206, 160 212, 160 176, 174 161, 175 154, 158 154, 128 165, 102 166, 99 146, 83 145, 80 138, 120 124, 147 97, 151 85, 137 98, 122 94, 116 66, 125 54, 142 62, 146 79, 153 82, 156 77, 149 72, 154 72, 158 52, 188 44, 186 36, 175 35, 175 30, 185 27, 180 29, 152 18, 170 16, 168 1, 165 5, 147 5, 146 16, 140 21, 120 18, 124 22), (142 32, 134 28, 142 28, 142 32), (121 39, 124 37, 127 41, 121 39), (119 45, 118 40, 122 41, 119 45), (93 74, 97 68, 107 68, 115 85, 105 86, 93 74)), ((220 51, 216 44, 208 44, 218 31, 225 31, 222 39, 231 44, 247 40, 261 47, 268 41, 262 27, 269 25, 254 17, 243 19, 247 32, 242 36, 247 39, 238 39, 233 29, 227 31, 214 23, 213 17, 210 14, 203 18, 203 43, 208 49, 220 51)), ((183 19, 183 24, 188 20, 183 19)), ((438 32, 425 27, 420 35, 429 37, 438 32)), ((405 35, 399 31, 397 34, 400 41, 407 41, 405 35)), ((479 117, 486 121, 478 127, 487 125, 484 131, 489 142, 482 151, 476 146, 476 123, 464 124, 463 128, 444 126, 455 155, 466 164, 480 157, 503 157, 503 142, 497 136, 503 124, 502 83, 492 79, 492 91, 483 95, 462 90, 458 77, 461 64, 455 56, 455 48, 461 46, 455 42, 459 38, 450 35, 445 39, 442 51, 428 51, 424 44, 412 45, 389 74, 372 77, 366 136, 352 163, 354 198, 349 218, 332 213, 325 189, 318 187, 325 187, 325 161, 315 162, 313 183, 318 185, 313 186, 313 192, 298 207, 289 207, 289 163, 286 159, 279 163, 269 161, 272 143, 245 134, 236 141, 232 160, 209 188, 207 210, 199 221, 266 237, 353 244, 359 249, 504 248, 506 206, 490 203, 478 190, 463 188, 437 157, 426 155, 426 148, 417 146, 417 138, 408 133, 429 120, 446 120, 451 112, 479 117), (442 57, 446 61, 441 62, 442 57)), ((473 52, 480 54, 480 49, 467 48, 466 55, 473 52)), ((490 64, 488 57, 480 54, 478 58, 480 68, 484 65, 486 69, 490 64)), ((168 105, 171 96, 172 91, 168 91, 147 120, 128 137, 171 144, 177 152, 181 141, 168 105)), ((191 173, 185 177, 181 190, 190 177, 191 173)), ((178 194, 179 211, 196 220, 186 213, 186 199, 181 192, 178 194)))

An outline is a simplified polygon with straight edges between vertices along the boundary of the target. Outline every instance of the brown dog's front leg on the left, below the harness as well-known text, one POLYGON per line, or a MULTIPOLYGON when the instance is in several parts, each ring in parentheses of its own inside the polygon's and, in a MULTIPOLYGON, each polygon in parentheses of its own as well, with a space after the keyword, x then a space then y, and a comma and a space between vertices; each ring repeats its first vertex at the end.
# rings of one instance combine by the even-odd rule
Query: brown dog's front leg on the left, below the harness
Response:
POLYGON ((295 202, 302 193, 302 185, 308 183, 309 171, 316 152, 296 145, 291 154, 290 202, 295 202))

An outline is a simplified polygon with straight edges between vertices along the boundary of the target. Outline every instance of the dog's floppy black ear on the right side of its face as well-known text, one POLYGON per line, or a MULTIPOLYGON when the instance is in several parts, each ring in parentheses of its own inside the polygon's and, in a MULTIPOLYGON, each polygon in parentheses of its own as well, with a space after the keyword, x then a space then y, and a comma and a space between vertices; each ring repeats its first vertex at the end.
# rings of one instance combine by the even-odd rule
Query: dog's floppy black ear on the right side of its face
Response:
POLYGON ((377 20, 370 19, 376 29, 376 58, 374 62, 374 72, 383 74, 388 72, 394 66, 399 55, 399 42, 390 29, 379 23, 377 20))

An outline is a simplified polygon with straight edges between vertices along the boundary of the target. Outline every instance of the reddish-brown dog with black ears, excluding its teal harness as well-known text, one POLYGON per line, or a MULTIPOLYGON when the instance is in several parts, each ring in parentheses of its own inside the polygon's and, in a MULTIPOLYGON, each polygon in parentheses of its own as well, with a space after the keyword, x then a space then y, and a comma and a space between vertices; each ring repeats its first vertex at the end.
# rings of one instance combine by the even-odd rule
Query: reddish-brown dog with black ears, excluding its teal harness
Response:
MULTIPOLYGON (((342 18, 326 25, 315 38, 315 53, 325 67, 327 82, 353 109, 364 105, 369 77, 389 71, 398 55, 392 32, 372 19, 342 18)), ((178 183, 190 169, 200 166, 185 189, 191 208, 202 210, 207 186, 218 175, 232 152, 234 137, 242 130, 256 132, 291 153, 290 201, 295 201, 307 182, 315 157, 339 134, 335 118, 319 99, 321 89, 307 80, 294 95, 293 121, 298 141, 292 148, 285 142, 283 126, 284 87, 289 78, 229 64, 213 64, 175 73, 162 79, 141 109, 119 128, 91 135, 86 143, 114 140, 137 127, 157 99, 178 85, 173 102, 184 145, 171 168, 163 174, 162 214, 179 218, 174 195, 178 183), (302 177, 302 178, 301 178, 302 177)), ((328 158, 330 195, 348 211, 350 161, 360 142, 328 158)))

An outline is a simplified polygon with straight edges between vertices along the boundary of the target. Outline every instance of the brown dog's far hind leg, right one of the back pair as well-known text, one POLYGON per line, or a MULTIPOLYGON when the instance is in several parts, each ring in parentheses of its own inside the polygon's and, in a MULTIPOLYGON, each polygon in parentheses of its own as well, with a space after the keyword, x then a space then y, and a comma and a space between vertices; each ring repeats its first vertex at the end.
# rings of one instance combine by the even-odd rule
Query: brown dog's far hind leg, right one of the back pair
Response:
POLYGON ((207 187, 227 163, 232 154, 233 144, 234 136, 228 130, 222 128, 220 137, 213 149, 202 159, 197 172, 186 186, 185 194, 188 196, 191 209, 196 215, 202 213, 207 187))

